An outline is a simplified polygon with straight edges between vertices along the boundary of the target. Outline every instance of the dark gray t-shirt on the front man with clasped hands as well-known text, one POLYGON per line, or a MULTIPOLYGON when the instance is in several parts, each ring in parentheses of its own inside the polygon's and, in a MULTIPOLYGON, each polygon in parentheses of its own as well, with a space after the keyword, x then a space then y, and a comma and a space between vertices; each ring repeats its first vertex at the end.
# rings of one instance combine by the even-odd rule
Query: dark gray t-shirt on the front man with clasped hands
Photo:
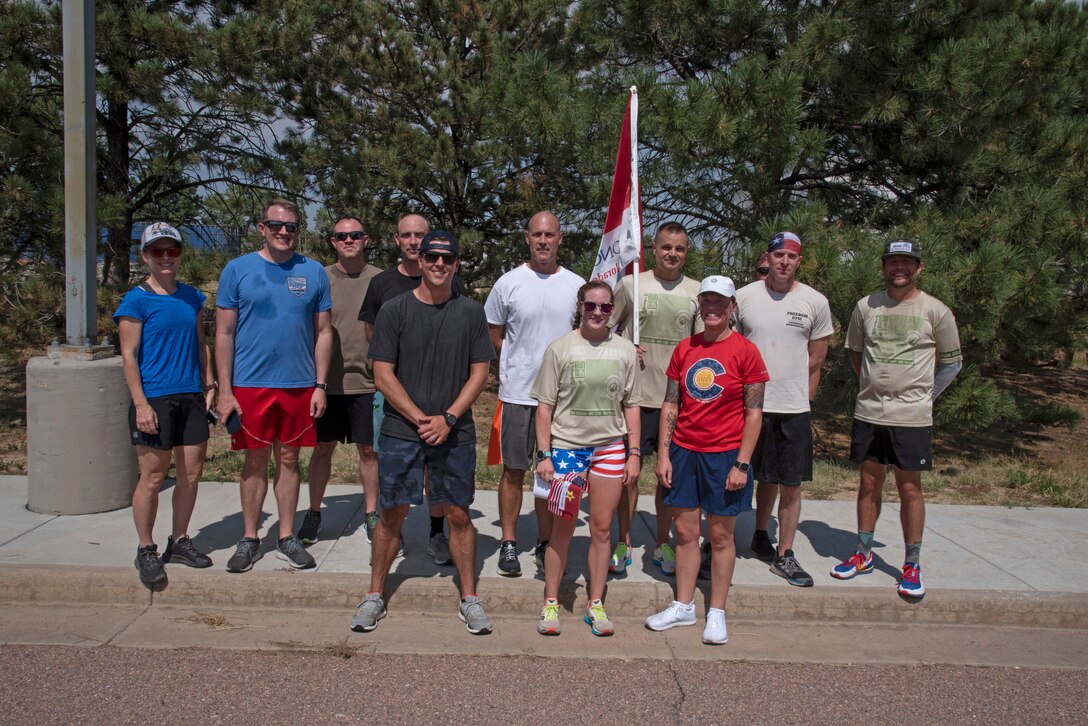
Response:
MULTIPOLYGON (((370 359, 394 365, 397 380, 428 416, 444 414, 457 399, 475 362, 495 357, 487 319, 479 303, 454 294, 441 305, 428 305, 405 293, 382 306, 374 321, 370 359)), ((385 402, 382 433, 419 441, 417 424, 385 402)), ((447 442, 475 443, 472 409, 457 419, 447 442)))

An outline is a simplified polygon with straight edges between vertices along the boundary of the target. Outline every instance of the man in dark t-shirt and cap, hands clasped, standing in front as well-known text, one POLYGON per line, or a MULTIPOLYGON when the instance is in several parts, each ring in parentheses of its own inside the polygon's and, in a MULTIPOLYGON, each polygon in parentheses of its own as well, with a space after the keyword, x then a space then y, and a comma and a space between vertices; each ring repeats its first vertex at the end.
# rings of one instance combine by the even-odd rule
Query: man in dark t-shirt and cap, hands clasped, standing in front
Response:
POLYGON ((461 591, 458 615, 469 632, 482 635, 492 626, 475 593, 477 531, 469 515, 475 495, 472 403, 487 381, 495 348, 483 306, 453 291, 457 238, 430 232, 419 250, 422 284, 382 307, 370 344, 374 384, 386 398, 378 458, 382 516, 370 591, 356 608, 351 629, 373 630, 385 616, 385 579, 408 507, 423 501, 426 470, 431 503, 449 520, 461 591))

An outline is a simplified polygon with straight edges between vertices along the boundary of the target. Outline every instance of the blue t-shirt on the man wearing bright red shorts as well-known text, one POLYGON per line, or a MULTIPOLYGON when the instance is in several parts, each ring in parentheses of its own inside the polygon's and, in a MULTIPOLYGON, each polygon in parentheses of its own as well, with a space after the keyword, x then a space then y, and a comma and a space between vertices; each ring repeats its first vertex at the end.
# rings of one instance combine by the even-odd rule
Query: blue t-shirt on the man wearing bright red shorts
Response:
POLYGON ((321 264, 301 255, 282 264, 244 255, 223 268, 215 306, 238 311, 233 385, 304 389, 317 382, 313 316, 333 306, 321 264))

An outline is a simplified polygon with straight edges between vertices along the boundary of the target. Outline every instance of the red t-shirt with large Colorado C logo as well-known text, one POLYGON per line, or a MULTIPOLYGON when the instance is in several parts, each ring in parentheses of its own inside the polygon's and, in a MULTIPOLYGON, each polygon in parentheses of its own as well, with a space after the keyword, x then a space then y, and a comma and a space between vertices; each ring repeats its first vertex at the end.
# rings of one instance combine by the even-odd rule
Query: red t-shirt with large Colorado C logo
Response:
POLYGON ((703 333, 680 341, 665 374, 680 385, 672 441, 694 452, 728 452, 741 445, 744 386, 769 381, 755 345, 740 333, 707 343, 703 333))

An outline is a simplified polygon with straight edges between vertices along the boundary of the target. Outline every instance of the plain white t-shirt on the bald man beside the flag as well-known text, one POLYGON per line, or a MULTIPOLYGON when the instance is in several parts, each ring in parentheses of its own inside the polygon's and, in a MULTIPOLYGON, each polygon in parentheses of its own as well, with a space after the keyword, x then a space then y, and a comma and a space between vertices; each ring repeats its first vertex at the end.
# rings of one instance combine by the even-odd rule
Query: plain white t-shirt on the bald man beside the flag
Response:
POLYGON ((498 359, 498 399, 535 406, 529 390, 553 341, 571 331, 578 288, 585 284, 566 268, 553 274, 521 264, 495 282, 483 309, 491 325, 505 325, 498 359))

